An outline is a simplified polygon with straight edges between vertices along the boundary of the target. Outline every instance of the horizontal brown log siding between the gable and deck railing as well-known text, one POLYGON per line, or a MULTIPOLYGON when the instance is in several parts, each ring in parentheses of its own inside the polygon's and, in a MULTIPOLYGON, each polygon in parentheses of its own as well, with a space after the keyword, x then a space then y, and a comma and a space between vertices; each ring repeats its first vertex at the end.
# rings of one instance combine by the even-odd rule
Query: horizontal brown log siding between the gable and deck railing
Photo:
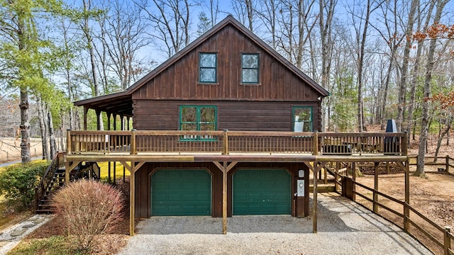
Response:
POLYGON ((179 106, 217 106, 218 130, 292 131, 292 107, 312 106, 313 130, 321 130, 320 102, 134 101, 137 130, 179 130, 179 106))

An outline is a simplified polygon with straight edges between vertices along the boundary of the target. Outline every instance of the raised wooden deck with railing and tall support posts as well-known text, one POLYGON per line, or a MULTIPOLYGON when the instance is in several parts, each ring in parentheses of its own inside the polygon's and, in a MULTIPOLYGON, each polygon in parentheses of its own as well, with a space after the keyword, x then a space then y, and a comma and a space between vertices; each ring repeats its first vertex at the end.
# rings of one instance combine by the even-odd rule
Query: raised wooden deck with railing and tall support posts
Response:
MULTIPOLYGON (((80 162, 121 162, 131 172, 130 234, 133 235, 135 171, 146 162, 212 162, 223 176, 222 215, 223 234, 226 234, 228 171, 238 162, 302 162, 314 173, 314 179, 328 162, 396 162, 406 171, 407 180, 406 141, 405 133, 68 131, 65 182, 69 182, 69 172, 80 162)), ((316 183, 312 206, 314 233, 317 232, 316 183)), ((408 194, 406 181, 406 202, 409 202, 408 194)))

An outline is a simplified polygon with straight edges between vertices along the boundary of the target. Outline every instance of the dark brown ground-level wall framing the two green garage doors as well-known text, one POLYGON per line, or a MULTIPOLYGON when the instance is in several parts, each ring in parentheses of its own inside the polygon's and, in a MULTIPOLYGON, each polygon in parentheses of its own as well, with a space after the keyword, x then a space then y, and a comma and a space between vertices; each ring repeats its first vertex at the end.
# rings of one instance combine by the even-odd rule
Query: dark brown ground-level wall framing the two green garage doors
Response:
MULTIPOLYGON (((211 216, 222 217, 222 172, 211 162, 202 163, 146 163, 135 172, 135 217, 143 218, 151 216, 151 174, 157 169, 208 169, 211 174, 211 216)), ((303 163, 238 163, 228 172, 228 216, 232 215, 232 175, 238 169, 287 169, 292 175, 292 196, 296 192, 298 170, 304 169, 306 183, 309 187, 309 169, 303 163)), ((309 208, 309 188, 304 198, 304 204, 297 203, 296 197, 292 196, 292 215, 298 207, 309 208)), ((309 211, 308 211, 309 212, 309 211)), ((307 215, 306 215, 307 216, 307 215)))

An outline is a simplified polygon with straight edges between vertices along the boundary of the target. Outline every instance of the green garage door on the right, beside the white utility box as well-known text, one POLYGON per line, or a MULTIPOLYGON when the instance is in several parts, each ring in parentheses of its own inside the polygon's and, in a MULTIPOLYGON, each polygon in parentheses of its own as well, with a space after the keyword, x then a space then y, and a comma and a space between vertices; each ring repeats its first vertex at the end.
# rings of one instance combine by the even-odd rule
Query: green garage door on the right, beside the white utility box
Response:
POLYGON ((233 174, 233 215, 291 214, 290 188, 284 169, 238 169, 233 174))

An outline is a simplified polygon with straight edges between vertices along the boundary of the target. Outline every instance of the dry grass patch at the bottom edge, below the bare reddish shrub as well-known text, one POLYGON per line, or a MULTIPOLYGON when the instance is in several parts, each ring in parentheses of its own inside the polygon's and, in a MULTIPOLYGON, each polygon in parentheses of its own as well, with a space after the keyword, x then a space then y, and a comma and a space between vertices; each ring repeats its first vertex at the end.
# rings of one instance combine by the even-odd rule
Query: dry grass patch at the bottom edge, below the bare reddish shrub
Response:
POLYGON ((77 251, 67 237, 52 236, 45 239, 24 240, 16 248, 9 252, 9 255, 60 255, 60 254, 84 254, 77 251))

